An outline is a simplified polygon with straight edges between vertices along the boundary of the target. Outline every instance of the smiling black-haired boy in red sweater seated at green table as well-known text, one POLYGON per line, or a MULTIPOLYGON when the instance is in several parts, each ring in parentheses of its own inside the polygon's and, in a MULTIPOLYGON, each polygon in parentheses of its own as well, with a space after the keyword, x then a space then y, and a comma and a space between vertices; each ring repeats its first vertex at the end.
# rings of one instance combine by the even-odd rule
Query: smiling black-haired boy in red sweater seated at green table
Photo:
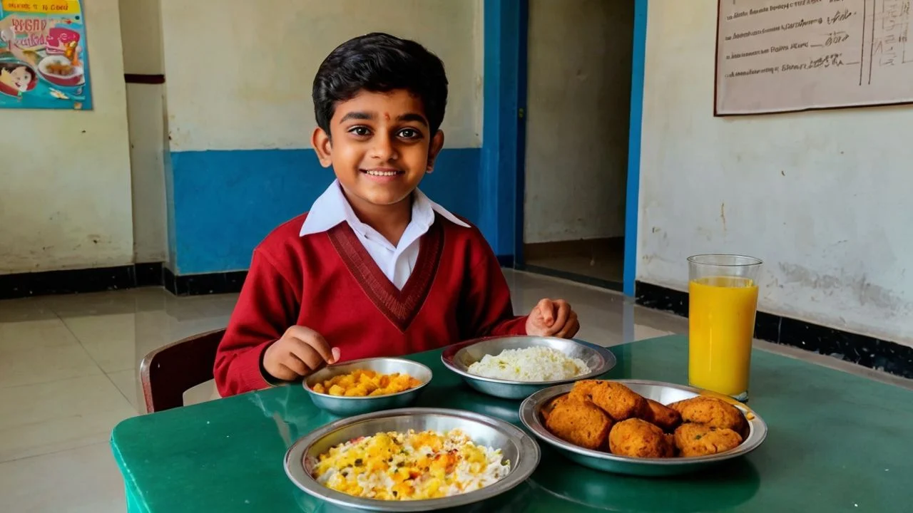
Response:
POLYGON ((222 396, 327 363, 580 329, 562 300, 514 317, 481 233, 417 189, 444 146, 446 96, 441 60, 386 34, 343 43, 320 65, 311 144, 337 180, 254 250, 215 356, 222 396))

